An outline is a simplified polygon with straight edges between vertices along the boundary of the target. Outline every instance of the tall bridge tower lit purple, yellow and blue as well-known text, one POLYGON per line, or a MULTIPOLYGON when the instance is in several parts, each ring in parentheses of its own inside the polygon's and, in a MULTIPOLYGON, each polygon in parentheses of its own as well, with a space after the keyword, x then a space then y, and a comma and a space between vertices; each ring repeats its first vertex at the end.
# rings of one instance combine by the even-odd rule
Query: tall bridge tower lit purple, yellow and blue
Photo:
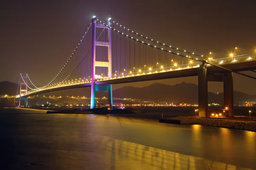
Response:
MULTIPOLYGON (((111 18, 108 19, 108 26, 111 27, 111 18)), ((90 108, 95 108, 95 91, 108 91, 108 109, 113 109, 112 85, 96 85, 95 68, 107 67, 108 78, 112 78, 112 32, 111 29, 102 23, 96 23, 96 17, 93 17, 93 42, 92 42, 92 72, 91 72, 91 103, 90 108), (102 42, 96 40, 96 28, 108 29, 108 41, 102 42), (108 47, 108 61, 96 61, 96 45, 108 47)))

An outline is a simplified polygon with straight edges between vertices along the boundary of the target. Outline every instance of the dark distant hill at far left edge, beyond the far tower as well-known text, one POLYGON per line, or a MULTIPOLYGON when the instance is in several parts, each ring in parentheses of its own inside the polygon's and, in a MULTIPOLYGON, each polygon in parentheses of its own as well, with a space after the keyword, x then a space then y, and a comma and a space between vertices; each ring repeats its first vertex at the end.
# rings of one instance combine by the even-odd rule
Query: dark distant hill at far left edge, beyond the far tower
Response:
POLYGON ((0 82, 0 95, 8 94, 9 96, 14 96, 17 93, 18 84, 14 82, 0 82))

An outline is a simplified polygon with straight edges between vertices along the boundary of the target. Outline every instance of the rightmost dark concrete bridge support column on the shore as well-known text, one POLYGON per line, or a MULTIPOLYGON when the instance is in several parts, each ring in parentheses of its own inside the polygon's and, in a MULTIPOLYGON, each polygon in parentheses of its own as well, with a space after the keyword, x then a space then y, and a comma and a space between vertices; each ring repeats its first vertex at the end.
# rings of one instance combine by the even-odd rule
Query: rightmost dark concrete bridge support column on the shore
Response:
POLYGON ((234 116, 234 98, 233 98, 233 73, 224 74, 224 107, 227 107, 229 117, 234 116))

